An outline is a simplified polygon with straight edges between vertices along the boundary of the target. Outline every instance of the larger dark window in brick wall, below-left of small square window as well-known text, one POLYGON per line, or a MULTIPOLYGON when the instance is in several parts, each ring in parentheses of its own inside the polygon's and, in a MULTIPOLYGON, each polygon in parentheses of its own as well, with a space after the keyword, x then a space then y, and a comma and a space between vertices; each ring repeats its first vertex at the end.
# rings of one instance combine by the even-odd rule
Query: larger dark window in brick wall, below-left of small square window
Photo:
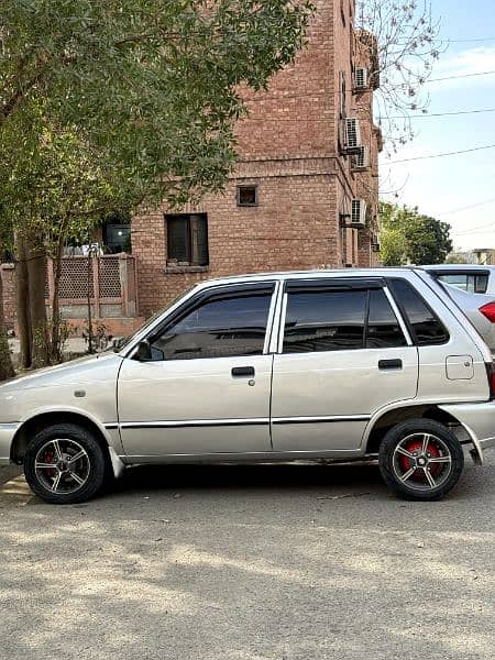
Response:
POLYGON ((165 216, 167 223, 167 265, 207 266, 207 213, 165 216))

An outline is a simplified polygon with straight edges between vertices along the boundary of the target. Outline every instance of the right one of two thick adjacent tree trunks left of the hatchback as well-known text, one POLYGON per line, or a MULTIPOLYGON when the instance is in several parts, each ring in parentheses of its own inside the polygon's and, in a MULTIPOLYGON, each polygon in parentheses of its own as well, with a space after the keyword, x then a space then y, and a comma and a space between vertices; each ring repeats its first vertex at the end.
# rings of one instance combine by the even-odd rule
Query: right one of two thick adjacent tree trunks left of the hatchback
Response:
POLYGON ((26 240, 26 257, 32 366, 38 369, 51 364, 51 359, 45 307, 46 253, 34 234, 26 240))

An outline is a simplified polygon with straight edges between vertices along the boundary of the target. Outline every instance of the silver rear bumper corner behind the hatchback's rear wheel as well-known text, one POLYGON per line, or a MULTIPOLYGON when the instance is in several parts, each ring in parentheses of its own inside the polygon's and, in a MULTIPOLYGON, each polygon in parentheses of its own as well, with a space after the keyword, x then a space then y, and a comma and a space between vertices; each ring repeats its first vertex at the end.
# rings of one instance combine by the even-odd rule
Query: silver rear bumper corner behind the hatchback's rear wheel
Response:
POLYGON ((495 447, 495 402, 439 406, 466 430, 483 463, 483 453, 495 447))

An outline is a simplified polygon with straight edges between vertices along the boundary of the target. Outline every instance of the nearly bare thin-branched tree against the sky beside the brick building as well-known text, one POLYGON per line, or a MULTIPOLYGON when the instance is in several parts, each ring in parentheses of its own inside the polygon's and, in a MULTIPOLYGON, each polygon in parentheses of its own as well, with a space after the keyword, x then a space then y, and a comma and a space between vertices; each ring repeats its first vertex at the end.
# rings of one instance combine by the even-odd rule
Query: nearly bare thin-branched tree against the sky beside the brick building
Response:
POLYGON ((372 63, 371 81, 380 81, 378 124, 396 150, 414 138, 411 113, 428 112, 425 85, 443 48, 439 22, 430 0, 358 0, 356 23, 363 31, 359 48, 372 63))

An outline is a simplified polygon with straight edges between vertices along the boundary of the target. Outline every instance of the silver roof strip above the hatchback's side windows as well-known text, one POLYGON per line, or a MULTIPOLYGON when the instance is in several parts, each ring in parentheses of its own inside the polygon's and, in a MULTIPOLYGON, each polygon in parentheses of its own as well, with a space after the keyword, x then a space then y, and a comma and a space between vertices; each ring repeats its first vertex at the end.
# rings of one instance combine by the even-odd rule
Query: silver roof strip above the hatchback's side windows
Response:
POLYGON ((375 267, 375 268, 318 268, 312 271, 280 271, 275 273, 249 273, 245 275, 232 275, 230 277, 216 277, 198 283, 198 288, 221 284, 240 284, 266 282, 271 279, 308 279, 323 277, 386 277, 398 274, 410 276, 414 267, 375 267))

